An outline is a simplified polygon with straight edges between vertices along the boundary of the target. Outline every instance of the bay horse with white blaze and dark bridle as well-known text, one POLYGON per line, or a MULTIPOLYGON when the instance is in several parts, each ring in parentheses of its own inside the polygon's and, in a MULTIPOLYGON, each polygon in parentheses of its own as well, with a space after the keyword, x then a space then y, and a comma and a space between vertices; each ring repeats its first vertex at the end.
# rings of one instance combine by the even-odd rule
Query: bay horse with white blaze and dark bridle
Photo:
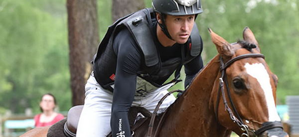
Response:
MULTIPOLYGON (((232 131, 241 137, 289 137, 276 110, 278 78, 253 32, 245 27, 244 40, 231 44, 209 32, 219 54, 162 115, 137 121, 133 137, 230 137, 232 131)), ((36 128, 21 137, 46 137, 37 136, 42 132, 36 128)))

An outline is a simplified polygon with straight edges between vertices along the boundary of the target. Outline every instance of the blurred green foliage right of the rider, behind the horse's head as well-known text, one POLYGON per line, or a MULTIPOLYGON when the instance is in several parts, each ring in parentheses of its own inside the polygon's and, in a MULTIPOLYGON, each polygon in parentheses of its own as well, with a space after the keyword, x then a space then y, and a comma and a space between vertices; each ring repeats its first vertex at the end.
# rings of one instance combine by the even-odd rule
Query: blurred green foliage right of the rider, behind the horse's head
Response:
POLYGON ((298 0, 201 0, 203 13, 197 24, 204 41, 205 63, 217 54, 207 27, 228 42, 242 38, 249 26, 266 56, 270 69, 279 77, 277 97, 299 95, 298 0))

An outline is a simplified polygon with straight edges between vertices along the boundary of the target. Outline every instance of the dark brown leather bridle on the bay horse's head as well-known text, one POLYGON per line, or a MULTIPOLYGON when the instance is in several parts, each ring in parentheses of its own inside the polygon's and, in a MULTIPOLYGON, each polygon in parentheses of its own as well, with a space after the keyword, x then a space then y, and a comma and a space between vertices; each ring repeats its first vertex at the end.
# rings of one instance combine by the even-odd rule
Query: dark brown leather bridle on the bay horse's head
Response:
POLYGON ((235 61, 239 60, 239 59, 243 59, 243 58, 249 58, 249 57, 261 57, 261 58, 265 58, 265 56, 263 54, 244 54, 244 55, 240 55, 240 56, 237 56, 235 58, 232 58, 231 60, 229 60, 228 62, 226 62, 225 64, 223 63, 223 59, 221 58, 220 56, 220 71, 221 71, 221 77, 219 78, 220 79, 220 82, 219 82, 219 90, 218 90, 218 95, 217 95, 217 106, 216 106, 216 119, 218 121, 218 105, 219 105, 219 98, 220 98, 220 91, 221 91, 221 94, 222 94, 222 99, 223 99, 223 102, 224 102, 224 105, 225 105, 225 111, 228 112, 229 116, 230 116, 230 119, 236 123, 240 128, 241 130, 244 132, 241 137, 250 137, 250 134, 249 133, 252 133, 254 136, 253 137, 257 137, 258 135, 260 135, 261 133, 267 131, 267 130, 270 130, 270 129, 273 129, 273 128, 282 128, 283 129, 283 125, 282 123, 271 123, 267 126, 263 126, 261 127, 260 129, 258 129, 257 131, 255 130, 251 130, 249 129, 249 127, 247 125, 245 125, 240 117, 240 115, 238 114, 235 106, 234 106, 234 103, 232 101, 232 98, 231 98, 231 94, 230 94, 230 91, 229 91, 229 88, 228 88, 228 82, 227 82, 227 79, 226 79, 226 72, 225 70, 232 64, 234 63, 235 61), (230 109, 230 107, 228 106, 228 103, 226 101, 226 97, 225 97, 225 94, 224 94, 224 83, 225 83, 225 86, 226 86, 226 91, 227 91, 227 94, 228 94, 228 97, 229 97, 229 100, 230 100, 230 103, 232 105, 232 108, 234 110, 234 113, 236 114, 237 117, 235 117, 234 113, 232 112, 232 110, 230 109))

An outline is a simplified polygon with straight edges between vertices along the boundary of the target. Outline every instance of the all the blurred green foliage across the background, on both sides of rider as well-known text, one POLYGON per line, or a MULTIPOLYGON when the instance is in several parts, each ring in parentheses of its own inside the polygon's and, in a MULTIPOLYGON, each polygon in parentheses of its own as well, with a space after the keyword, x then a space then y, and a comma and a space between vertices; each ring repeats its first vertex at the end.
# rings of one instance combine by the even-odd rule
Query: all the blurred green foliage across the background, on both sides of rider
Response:
MULTIPOLYGON (((112 0, 97 2, 102 39, 112 24, 112 0)), ((285 96, 299 95, 298 0, 201 2, 204 11, 196 23, 204 41, 205 64, 217 54, 208 27, 236 42, 249 26, 279 77, 279 100, 284 103, 285 96)), ((151 7, 151 0, 145 3, 151 7)), ((56 96, 60 111, 71 107, 67 28, 66 0, 0 0, 0 113, 4 109, 23 113, 27 107, 38 113, 40 98, 48 92, 56 96)), ((183 82, 174 89, 182 90, 183 82)))

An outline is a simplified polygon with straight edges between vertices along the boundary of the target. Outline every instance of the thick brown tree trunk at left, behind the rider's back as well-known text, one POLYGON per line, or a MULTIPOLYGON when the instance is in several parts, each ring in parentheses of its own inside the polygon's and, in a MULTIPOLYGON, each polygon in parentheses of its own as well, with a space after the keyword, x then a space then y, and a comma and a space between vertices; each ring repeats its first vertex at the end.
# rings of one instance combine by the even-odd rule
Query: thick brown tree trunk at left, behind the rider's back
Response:
POLYGON ((97 1, 67 0, 72 104, 84 104, 90 61, 99 43, 97 1))

